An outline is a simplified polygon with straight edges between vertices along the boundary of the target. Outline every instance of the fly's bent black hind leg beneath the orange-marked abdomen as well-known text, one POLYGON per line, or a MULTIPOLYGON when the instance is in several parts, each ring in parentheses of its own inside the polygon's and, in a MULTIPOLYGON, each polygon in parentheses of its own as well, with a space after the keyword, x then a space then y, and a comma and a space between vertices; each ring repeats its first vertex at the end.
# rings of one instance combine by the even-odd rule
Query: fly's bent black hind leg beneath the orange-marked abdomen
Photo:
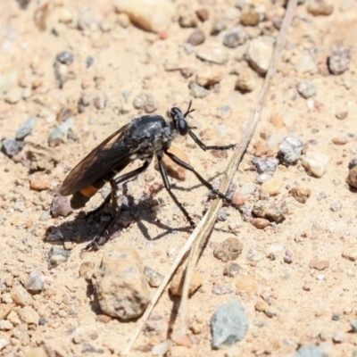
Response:
MULTIPOLYGON (((112 192, 111 195, 108 195, 105 200, 104 203, 109 203, 110 201, 112 201, 112 217, 111 219, 105 223, 104 228, 102 229, 102 232, 100 233, 99 236, 96 236, 94 239, 92 239, 89 244, 86 245, 86 247, 83 249, 84 251, 88 251, 88 250, 97 250, 99 248, 100 245, 104 245, 106 242, 108 242, 109 238, 111 237, 109 232, 112 228, 112 225, 115 222, 115 216, 118 212, 119 209, 119 204, 118 204, 118 185, 121 182, 125 182, 128 181, 129 179, 134 179, 135 177, 137 177, 138 174, 140 174, 141 172, 145 171, 147 169, 147 167, 149 166, 150 162, 153 160, 153 158, 147 158, 143 164, 143 166, 140 166, 139 168, 137 168, 136 170, 132 170, 122 176, 120 176, 118 179, 111 179, 110 180, 110 184, 112 187, 112 192), (109 197, 109 199, 108 199, 109 197)), ((104 206, 104 203, 102 203, 100 205, 100 207, 104 206)), ((98 207, 99 208, 99 207, 98 207)))

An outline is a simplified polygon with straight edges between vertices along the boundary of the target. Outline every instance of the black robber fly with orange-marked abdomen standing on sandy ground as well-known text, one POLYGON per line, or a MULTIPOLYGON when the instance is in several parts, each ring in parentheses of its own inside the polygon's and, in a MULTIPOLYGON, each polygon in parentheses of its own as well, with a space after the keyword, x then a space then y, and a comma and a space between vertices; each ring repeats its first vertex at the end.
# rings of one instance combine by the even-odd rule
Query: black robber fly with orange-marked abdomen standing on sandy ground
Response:
POLYGON ((168 151, 172 141, 178 134, 181 136, 186 136, 188 134, 204 151, 228 150, 235 146, 204 145, 193 133, 193 128, 189 127, 187 124, 187 115, 190 112, 195 111, 195 109, 191 109, 191 104, 192 102, 188 105, 188 109, 185 113, 177 107, 171 108, 170 121, 166 121, 161 115, 156 114, 143 115, 132 120, 129 124, 124 125, 122 128, 114 132, 110 137, 107 137, 103 143, 96 146, 94 150, 87 154, 87 156, 79 162, 73 170, 71 170, 70 174, 62 184, 60 193, 61 195, 72 195, 71 207, 73 209, 83 207, 90 197, 95 195, 100 188, 104 187, 105 183, 109 182, 112 187, 112 193, 108 195, 105 198, 104 203, 95 210, 95 212, 100 210, 105 204, 112 200, 112 220, 109 220, 105 225, 102 234, 95 237, 93 241, 87 245, 85 250, 97 248, 98 245, 104 245, 108 240, 109 228, 112 226, 115 214, 118 211, 118 185, 124 181, 137 177, 138 174, 145 171, 153 161, 154 156, 156 156, 158 160, 159 170, 167 192, 177 204, 180 211, 185 215, 191 226, 195 227, 194 220, 191 219, 185 207, 179 203, 176 195, 171 191, 168 174, 162 162, 164 154, 169 156, 170 160, 177 163, 179 166, 193 172, 203 186, 207 187, 214 194, 219 195, 220 198, 225 199, 228 203, 239 209, 239 207, 235 203, 232 203, 226 195, 215 190, 192 166, 188 165, 187 162, 183 162, 168 151), (130 162, 135 160, 142 160, 144 163, 136 170, 129 171, 116 178, 116 176, 120 174, 130 162))

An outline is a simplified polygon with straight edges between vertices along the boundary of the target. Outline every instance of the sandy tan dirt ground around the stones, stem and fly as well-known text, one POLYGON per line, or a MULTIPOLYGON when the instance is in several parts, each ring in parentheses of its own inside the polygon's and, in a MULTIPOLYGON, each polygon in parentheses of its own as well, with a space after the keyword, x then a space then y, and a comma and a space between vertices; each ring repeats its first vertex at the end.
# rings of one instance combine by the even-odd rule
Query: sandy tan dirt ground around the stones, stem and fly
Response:
MULTIPOLYGON (((112 239, 97 252, 80 255, 108 215, 88 222, 76 220, 77 212, 65 218, 51 215, 54 197, 71 168, 105 137, 145 113, 134 106, 137 95, 153 95, 149 110, 154 105, 154 112, 166 117, 172 105, 186 111, 193 95, 190 86, 199 82, 197 73, 208 77, 213 85, 199 88, 208 90, 203 98, 194 94, 190 125, 197 127, 195 133, 209 145, 240 141, 262 75, 245 61, 252 39, 235 48, 223 46, 222 41, 227 30, 239 24, 244 2, 238 2, 240 8, 235 1, 174 4, 179 8, 188 3, 184 16, 193 16, 205 35, 199 46, 187 45, 194 28, 180 26, 179 10, 169 28, 157 34, 133 26, 127 16, 115 12, 112 1, 54 0, 47 4, 24 0, 22 6, 12 0, 1 1, 1 137, 14 139, 25 120, 36 118, 20 154, 10 158, 0 153, 1 355, 120 353, 136 322, 123 323, 100 315, 91 286, 79 276, 79 268, 84 262, 98 266, 104 253, 133 248, 145 266, 163 275, 189 237, 187 220, 165 189, 157 189, 162 187, 162 179, 154 165, 126 186, 129 199, 122 200, 128 205, 118 216, 112 239), (201 9, 207 10, 207 21, 195 18, 195 11, 201 9), (224 22, 226 29, 212 36, 216 20, 224 22), (227 54, 226 62, 215 64, 197 58, 200 51, 210 53, 212 44, 227 54), (68 65, 66 59, 64 64, 56 60, 63 51, 73 55, 68 65), (249 73, 253 91, 236 89, 241 73, 249 73), (63 108, 71 111, 72 123, 66 121, 63 108), (71 129, 60 137, 53 135, 50 147, 50 133, 64 122, 69 127, 71 124, 71 129), (42 153, 41 160, 37 150, 42 153), (158 192, 142 203, 153 191, 158 192), (64 242, 47 241, 54 228, 64 242), (51 267, 51 250, 63 246, 69 256, 51 267), (45 285, 37 294, 32 291, 31 297, 21 286, 27 286, 34 270, 40 271, 45 285)), ((281 2, 252 4, 261 18, 256 26, 245 26, 247 36, 276 37, 284 14, 281 2)), ((357 353, 356 333, 350 326, 357 319, 357 201, 354 189, 346 183, 348 164, 357 150, 357 6, 353 0, 318 4, 322 8, 319 16, 311 14, 308 4, 297 8, 262 120, 234 179, 237 190, 245 194, 246 206, 269 202, 286 207, 284 220, 253 220, 256 227, 268 224, 260 229, 233 207, 224 208, 197 266, 203 285, 189 301, 189 340, 172 347, 174 356, 287 356, 309 345, 320 346, 328 356, 357 353), (341 74, 328 71, 332 46, 344 46, 351 52, 348 69, 341 74), (309 56, 310 67, 301 59, 303 54, 309 56), (306 99, 298 93, 302 80, 315 87, 315 95, 306 99), (303 155, 309 151, 326 155, 328 163, 323 163, 324 157, 317 159, 326 170, 320 178, 307 173, 301 156, 295 164, 279 164, 274 180, 264 184, 264 189, 257 183, 253 156, 277 157, 284 137, 300 139, 303 155), (250 183, 255 185, 251 195, 247 192, 250 183), (305 203, 295 199, 292 187, 297 187, 297 195, 305 203), (303 190, 310 190, 310 197, 303 190), (231 262, 213 255, 214 249, 231 237, 243 244, 234 261, 239 265, 234 277, 223 275, 231 262), (248 317, 247 334, 229 349, 213 351, 212 313, 235 298, 248 317)), ((211 182, 220 178, 231 155, 205 153, 186 137, 178 137, 175 145, 211 182)), ((129 169, 138 165, 134 162, 129 169)), ((199 221, 207 189, 189 172, 185 181, 171 182, 179 201, 199 221)), ((103 195, 109 192, 107 187, 103 191, 103 195)), ((102 203, 103 195, 95 195, 84 211, 102 203)), ((153 355, 152 347, 167 339, 177 306, 178 299, 166 291, 153 312, 154 320, 160 323, 154 330, 145 329, 131 355, 153 355)))

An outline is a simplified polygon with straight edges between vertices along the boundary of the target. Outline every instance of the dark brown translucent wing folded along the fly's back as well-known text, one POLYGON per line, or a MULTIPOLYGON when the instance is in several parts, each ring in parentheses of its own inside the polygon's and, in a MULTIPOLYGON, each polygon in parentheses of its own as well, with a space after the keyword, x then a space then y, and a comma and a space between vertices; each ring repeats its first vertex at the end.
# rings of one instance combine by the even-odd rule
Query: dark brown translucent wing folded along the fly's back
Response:
POLYGON ((129 162, 129 155, 136 151, 136 147, 124 147, 120 140, 128 129, 129 124, 107 137, 103 143, 95 147, 79 164, 71 170, 63 181, 61 195, 74 194, 84 187, 101 179, 106 173, 117 167, 122 170, 129 162), (120 168, 120 162, 123 167, 120 168))

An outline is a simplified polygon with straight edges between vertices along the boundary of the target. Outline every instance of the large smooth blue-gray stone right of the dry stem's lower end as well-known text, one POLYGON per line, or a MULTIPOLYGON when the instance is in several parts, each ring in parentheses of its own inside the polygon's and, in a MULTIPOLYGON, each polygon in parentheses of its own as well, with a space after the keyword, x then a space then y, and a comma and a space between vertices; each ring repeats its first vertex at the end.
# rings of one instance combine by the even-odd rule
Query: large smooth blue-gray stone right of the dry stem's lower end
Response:
POLYGON ((249 320, 239 300, 224 303, 211 318, 212 347, 222 348, 241 341, 249 328, 249 320))

